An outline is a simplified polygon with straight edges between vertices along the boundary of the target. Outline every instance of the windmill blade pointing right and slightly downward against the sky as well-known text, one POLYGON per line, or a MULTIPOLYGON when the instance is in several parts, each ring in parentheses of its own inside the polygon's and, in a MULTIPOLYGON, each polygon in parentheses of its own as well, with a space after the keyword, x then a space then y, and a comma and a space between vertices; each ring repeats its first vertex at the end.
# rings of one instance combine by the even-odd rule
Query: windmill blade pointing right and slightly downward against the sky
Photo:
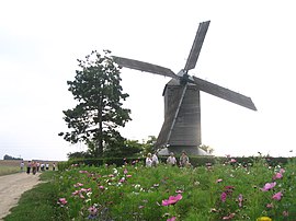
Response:
POLYGON ((244 96, 242 94, 239 94, 237 92, 230 91, 228 89, 225 89, 223 86, 219 86, 217 84, 210 83, 208 81, 198 79, 196 77, 192 77, 194 80, 194 83, 197 84, 201 91, 204 91, 206 93, 209 93, 214 96, 218 96, 220 98, 224 98, 228 102, 232 102, 235 104, 238 104, 240 106, 257 111, 252 100, 248 96, 244 96))

